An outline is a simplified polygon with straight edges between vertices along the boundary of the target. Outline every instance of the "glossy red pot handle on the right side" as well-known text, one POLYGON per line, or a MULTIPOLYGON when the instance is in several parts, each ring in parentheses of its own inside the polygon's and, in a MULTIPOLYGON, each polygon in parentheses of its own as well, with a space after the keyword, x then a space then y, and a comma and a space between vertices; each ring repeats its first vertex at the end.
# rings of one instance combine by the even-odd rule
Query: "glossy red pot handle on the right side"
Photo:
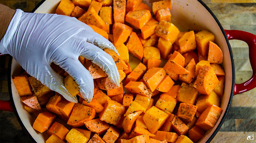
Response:
POLYGON ((229 40, 242 40, 249 46, 249 59, 252 66, 252 77, 246 82, 240 84, 235 83, 234 95, 236 95, 256 87, 256 35, 239 30, 225 30, 225 32, 229 40))

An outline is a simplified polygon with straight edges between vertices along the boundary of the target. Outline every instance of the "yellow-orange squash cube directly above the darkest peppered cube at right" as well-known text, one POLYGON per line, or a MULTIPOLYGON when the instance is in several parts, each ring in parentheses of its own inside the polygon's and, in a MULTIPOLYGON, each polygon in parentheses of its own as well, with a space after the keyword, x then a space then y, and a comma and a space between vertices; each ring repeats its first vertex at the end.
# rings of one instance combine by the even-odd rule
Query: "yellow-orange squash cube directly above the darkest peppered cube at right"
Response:
POLYGON ((194 105, 198 96, 196 88, 182 83, 179 89, 179 93, 176 97, 177 101, 194 105))

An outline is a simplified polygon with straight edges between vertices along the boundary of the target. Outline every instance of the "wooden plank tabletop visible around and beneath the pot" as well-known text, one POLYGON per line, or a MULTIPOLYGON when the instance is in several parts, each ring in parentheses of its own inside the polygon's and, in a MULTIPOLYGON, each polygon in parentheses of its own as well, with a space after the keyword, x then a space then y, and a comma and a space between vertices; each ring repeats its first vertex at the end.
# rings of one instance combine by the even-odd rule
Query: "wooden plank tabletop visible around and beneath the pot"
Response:
MULTIPOLYGON (((41 0, 0 0, 13 9, 30 12, 41 0)), ((244 30, 256 34, 256 0, 203 0, 225 29, 244 30)), ((236 64, 236 83, 252 76, 248 46, 238 40, 229 41, 236 64)), ((0 57, 0 99, 8 100, 7 68, 9 57, 0 57)), ((233 97, 228 116, 211 143, 256 142, 256 89, 233 97), (254 140, 247 140, 248 136, 254 140)), ((0 143, 31 142, 22 131, 14 113, 0 111, 0 143)))

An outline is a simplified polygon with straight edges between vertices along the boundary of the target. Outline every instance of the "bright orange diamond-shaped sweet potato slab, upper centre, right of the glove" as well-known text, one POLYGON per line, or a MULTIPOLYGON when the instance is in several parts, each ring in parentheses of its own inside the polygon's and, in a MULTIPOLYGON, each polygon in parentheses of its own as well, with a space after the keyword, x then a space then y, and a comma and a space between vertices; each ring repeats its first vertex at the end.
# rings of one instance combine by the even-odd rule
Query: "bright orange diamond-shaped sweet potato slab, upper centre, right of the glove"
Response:
POLYGON ((130 54, 134 55, 140 61, 143 57, 143 46, 140 42, 138 35, 135 32, 132 32, 129 38, 128 43, 126 44, 130 54))

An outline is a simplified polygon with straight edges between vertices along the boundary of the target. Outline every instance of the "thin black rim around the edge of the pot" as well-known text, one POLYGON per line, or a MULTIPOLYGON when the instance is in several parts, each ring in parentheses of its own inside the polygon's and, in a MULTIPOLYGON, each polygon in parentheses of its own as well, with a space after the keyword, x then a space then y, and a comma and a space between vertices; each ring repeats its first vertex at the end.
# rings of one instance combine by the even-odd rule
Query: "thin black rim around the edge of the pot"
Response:
MULTIPOLYGON (((46 0, 42 0, 39 4, 36 5, 36 7, 33 9, 32 12, 35 12, 46 0)), ((231 106, 231 102, 232 102, 232 98, 233 98, 233 94, 234 94, 234 87, 235 87, 235 62, 234 62, 234 56, 232 53, 232 49, 231 46, 228 42, 228 37, 222 27, 222 25, 220 24, 220 21, 218 20, 218 18, 213 14, 213 12, 210 10, 210 8, 204 4, 204 2, 202 0, 197 0, 199 3, 201 3, 204 8, 212 15, 212 17, 215 19, 216 23, 219 25, 219 28, 222 32, 222 34, 225 37, 226 43, 228 45, 228 50, 229 50, 229 54, 230 54, 230 60, 231 60, 231 66, 232 66, 232 87, 231 87, 231 93, 230 93, 230 97, 229 97, 229 101, 228 101, 228 105, 227 105, 227 109, 224 112, 223 117, 220 120, 219 125, 217 126, 217 128, 214 130, 214 132, 212 133, 212 135, 210 136, 209 139, 207 139, 207 141, 205 143, 210 143, 210 141, 214 138, 214 136, 217 134, 217 132, 220 130, 220 127, 222 126, 223 122, 225 121, 227 115, 228 115, 228 111, 230 109, 231 106)), ((15 108, 14 105, 14 100, 12 97, 12 86, 11 86, 11 67, 12 67, 12 58, 9 59, 9 66, 8 66, 8 89, 9 89, 9 94, 10 94, 10 100, 12 102, 12 107, 13 107, 13 111, 15 113, 16 118, 18 119, 20 126, 22 127, 23 131, 27 133, 28 137, 31 139, 31 141, 36 143, 36 140, 31 136, 31 134, 28 132, 27 128, 25 127, 25 125, 22 123, 20 116, 18 114, 17 109, 15 108)))

